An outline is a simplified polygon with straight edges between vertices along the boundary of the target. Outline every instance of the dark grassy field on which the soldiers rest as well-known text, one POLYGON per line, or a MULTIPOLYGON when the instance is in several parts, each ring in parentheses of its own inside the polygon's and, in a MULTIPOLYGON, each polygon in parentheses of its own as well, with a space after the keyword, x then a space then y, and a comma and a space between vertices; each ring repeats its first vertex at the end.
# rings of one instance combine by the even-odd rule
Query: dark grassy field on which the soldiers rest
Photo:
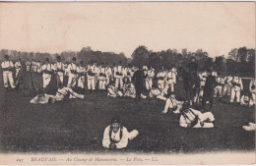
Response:
MULTIPOLYGON (((215 129, 183 129, 178 116, 161 115, 164 101, 135 102, 129 98, 108 98, 101 92, 86 93, 85 100, 32 105, 30 75, 24 74, 19 92, 5 92, 0 76, 1 152, 109 152, 101 146, 104 128, 119 115, 128 131, 140 135, 126 152, 204 152, 218 150, 253 150, 255 133, 241 129, 244 120, 255 121, 254 108, 230 105, 227 99, 215 101, 215 129)), ((33 75, 36 84, 39 75, 33 75)), ((54 83, 54 81, 53 81, 54 83)), ((183 98, 182 83, 177 96, 183 98)))

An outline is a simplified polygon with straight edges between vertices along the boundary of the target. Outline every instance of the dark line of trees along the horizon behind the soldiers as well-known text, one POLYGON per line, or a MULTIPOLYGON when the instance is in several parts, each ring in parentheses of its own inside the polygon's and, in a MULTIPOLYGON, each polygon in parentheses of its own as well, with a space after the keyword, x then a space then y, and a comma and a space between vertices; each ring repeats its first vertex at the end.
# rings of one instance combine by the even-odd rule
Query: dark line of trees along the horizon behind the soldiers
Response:
POLYGON ((45 58, 49 58, 50 61, 56 61, 56 57, 60 56, 62 61, 71 62, 73 57, 76 57, 78 61, 84 61, 86 64, 104 63, 106 65, 118 64, 122 61, 122 65, 128 66, 141 66, 148 65, 159 70, 161 67, 168 69, 171 67, 184 67, 186 66, 191 57, 195 57, 199 64, 199 70, 214 69, 217 72, 227 73, 250 73, 255 72, 255 49, 253 48, 233 48, 229 51, 227 56, 221 55, 215 58, 209 56, 208 52, 203 49, 198 49, 195 52, 182 49, 178 52, 176 49, 167 49, 155 52, 148 50, 144 45, 138 46, 131 55, 131 58, 127 58, 124 53, 114 52, 101 52, 95 51, 91 47, 84 47, 81 51, 63 51, 61 53, 40 53, 40 52, 21 52, 16 50, 2 49, 0 51, 0 60, 4 60, 4 55, 10 55, 12 60, 39 60, 44 61, 45 58))

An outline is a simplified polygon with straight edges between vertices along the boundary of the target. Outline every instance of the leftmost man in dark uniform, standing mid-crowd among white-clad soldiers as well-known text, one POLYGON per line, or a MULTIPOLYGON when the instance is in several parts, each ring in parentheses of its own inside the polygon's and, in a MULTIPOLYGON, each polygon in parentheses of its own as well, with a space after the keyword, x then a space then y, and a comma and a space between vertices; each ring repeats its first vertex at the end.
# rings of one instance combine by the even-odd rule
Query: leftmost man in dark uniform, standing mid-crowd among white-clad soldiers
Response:
POLYGON ((143 81, 146 79, 144 72, 142 71, 142 68, 140 67, 139 70, 137 70, 132 78, 132 81, 134 82, 135 85, 135 90, 136 90, 136 100, 141 99, 141 93, 143 89, 143 81))

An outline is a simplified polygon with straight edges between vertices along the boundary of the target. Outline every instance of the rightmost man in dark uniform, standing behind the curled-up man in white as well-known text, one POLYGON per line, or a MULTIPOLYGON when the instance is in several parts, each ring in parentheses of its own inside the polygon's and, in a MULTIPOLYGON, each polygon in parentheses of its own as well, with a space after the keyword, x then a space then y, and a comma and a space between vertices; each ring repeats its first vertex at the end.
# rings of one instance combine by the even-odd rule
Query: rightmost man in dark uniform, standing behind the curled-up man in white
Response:
POLYGON ((206 79, 204 94, 202 99, 202 109, 205 111, 206 102, 210 102, 210 111, 212 111, 214 104, 214 88, 216 86, 216 77, 212 75, 211 69, 209 70, 208 77, 206 79))

